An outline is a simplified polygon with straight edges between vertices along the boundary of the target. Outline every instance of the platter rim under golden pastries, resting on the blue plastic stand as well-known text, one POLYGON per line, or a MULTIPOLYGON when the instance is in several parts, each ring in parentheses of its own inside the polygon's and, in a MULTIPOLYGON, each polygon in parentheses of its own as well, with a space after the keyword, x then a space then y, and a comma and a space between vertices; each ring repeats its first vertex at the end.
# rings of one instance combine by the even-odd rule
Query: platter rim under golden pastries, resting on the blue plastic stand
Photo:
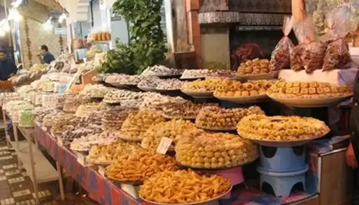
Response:
POLYGON ((244 134, 241 134, 240 132, 238 132, 238 135, 240 135, 243 138, 246 139, 250 139, 252 141, 254 141, 255 143, 262 145, 262 146, 267 146, 267 147, 295 147, 295 146, 301 146, 301 145, 305 145, 308 144, 308 142, 317 139, 317 138, 321 138, 323 136, 325 136, 326 134, 328 134, 329 131, 321 136, 313 136, 313 137, 309 137, 308 139, 300 139, 300 140, 282 140, 282 141, 278 141, 278 140, 264 140, 264 139, 258 139, 258 138, 254 138, 254 137, 248 137, 244 134))

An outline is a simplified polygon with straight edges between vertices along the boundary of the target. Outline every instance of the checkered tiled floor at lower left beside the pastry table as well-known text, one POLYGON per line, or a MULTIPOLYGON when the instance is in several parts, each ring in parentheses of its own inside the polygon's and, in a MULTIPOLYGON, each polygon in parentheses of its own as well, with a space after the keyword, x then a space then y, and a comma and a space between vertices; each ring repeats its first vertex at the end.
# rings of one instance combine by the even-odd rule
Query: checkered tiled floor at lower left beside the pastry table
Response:
MULTIPOLYGON (((28 205, 36 204, 32 181, 26 171, 20 171, 17 165, 16 153, 0 142, 0 204, 28 205)), ((57 182, 39 185, 41 204, 71 204, 84 205, 81 196, 66 195, 67 200, 56 201, 58 196, 57 182)), ((93 203, 91 203, 93 204, 93 203)))

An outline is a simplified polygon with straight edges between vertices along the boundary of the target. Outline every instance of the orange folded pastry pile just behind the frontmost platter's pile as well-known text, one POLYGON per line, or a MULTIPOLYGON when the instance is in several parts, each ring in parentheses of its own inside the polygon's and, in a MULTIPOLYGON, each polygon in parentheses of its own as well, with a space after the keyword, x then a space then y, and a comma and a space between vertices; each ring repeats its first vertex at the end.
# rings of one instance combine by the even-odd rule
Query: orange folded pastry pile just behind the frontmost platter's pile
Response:
POLYGON ((144 181, 153 174, 165 170, 176 170, 172 157, 144 151, 118 158, 106 167, 106 175, 111 180, 133 182, 144 181))

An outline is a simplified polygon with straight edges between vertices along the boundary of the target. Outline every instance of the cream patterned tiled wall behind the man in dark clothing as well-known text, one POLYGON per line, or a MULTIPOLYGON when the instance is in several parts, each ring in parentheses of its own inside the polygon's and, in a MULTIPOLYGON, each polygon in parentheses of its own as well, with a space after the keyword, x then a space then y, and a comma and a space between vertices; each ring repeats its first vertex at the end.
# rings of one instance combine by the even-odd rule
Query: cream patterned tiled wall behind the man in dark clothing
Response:
POLYGON ((22 9, 20 12, 23 15, 19 27, 21 33, 21 53, 22 63, 24 68, 29 68, 33 64, 40 63, 36 56, 39 47, 43 44, 49 47, 49 51, 58 57, 62 50, 67 47, 66 35, 55 35, 54 31, 47 31, 44 29, 43 23, 38 19, 47 19, 47 9, 41 4, 32 2, 22 9), (31 10, 31 12, 29 12, 31 10), (62 38, 62 45, 60 39, 62 38))

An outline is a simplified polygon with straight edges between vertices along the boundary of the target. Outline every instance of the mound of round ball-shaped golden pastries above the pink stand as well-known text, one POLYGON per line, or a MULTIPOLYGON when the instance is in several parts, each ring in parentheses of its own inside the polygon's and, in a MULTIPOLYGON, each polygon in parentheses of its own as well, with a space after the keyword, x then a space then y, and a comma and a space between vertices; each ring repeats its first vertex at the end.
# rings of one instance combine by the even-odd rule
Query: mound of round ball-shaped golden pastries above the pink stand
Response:
POLYGON ((188 135, 178 141, 175 150, 176 161, 203 169, 244 165, 258 157, 258 148, 251 140, 229 133, 188 135))

